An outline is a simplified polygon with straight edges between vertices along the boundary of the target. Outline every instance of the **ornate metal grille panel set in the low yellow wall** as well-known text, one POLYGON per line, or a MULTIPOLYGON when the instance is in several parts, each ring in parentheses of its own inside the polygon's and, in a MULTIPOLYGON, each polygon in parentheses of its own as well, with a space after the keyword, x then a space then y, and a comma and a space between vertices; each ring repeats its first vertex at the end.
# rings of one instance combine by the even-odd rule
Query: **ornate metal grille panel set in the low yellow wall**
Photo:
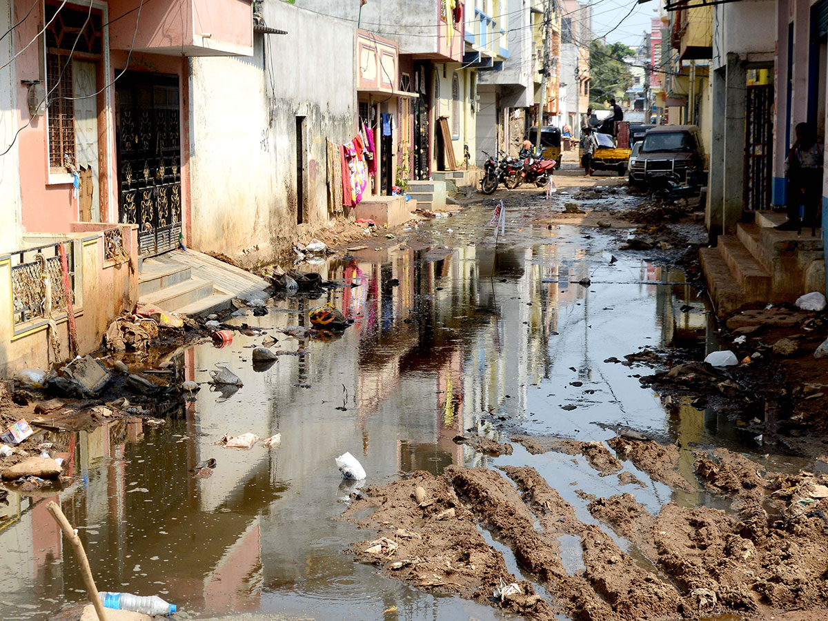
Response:
MULTIPOLYGON (((69 267, 69 295, 75 301, 75 258, 73 244, 65 242, 69 267)), ((27 248, 12 254, 12 312, 14 325, 46 318, 46 276, 51 287, 51 312, 66 311, 63 268, 60 265, 60 243, 27 248), (42 259, 41 259, 42 257, 42 259), (46 272, 44 273, 44 266, 46 272)))

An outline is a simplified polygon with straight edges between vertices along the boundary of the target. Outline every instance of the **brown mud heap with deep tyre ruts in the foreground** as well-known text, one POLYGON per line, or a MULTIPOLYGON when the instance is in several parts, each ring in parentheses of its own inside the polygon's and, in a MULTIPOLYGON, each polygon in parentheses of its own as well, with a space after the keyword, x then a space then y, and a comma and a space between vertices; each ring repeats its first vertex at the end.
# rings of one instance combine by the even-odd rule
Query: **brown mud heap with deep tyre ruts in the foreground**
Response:
MULTIPOLYGON (((590 443, 514 440, 539 452, 585 455, 599 472, 612 463, 590 459, 603 452, 590 443)), ((629 493, 592 497, 592 516, 631 542, 641 561, 602 527, 582 522, 535 469, 504 466, 503 476, 451 466, 443 476, 416 473, 368 489, 369 498, 355 501, 345 517, 386 538, 362 542, 354 553, 419 588, 489 601, 532 619, 765 619, 792 610, 826 612, 828 476, 766 473, 743 455, 717 449, 693 454, 698 480, 691 482, 676 469, 675 445, 621 437, 608 444, 616 456, 600 446, 619 466, 619 458, 631 460, 673 489, 703 486, 729 499, 731 510, 668 503, 652 515, 629 493), (371 508, 371 515, 359 517, 371 508), (516 580, 479 527, 513 550, 548 600, 527 581, 518 583, 518 599, 492 597, 500 580, 516 580), (575 574, 561 560, 562 535, 580 540, 584 569, 575 574)))

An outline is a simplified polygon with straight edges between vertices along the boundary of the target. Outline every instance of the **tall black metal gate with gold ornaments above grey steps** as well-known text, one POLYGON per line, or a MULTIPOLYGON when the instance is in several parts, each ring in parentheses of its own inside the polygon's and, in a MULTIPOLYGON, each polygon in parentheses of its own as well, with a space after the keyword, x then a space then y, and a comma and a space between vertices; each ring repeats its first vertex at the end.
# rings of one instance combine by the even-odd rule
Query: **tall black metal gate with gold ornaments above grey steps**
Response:
POLYGON ((181 235, 178 78, 129 71, 118 80, 119 219, 138 225, 138 252, 165 253, 181 235))

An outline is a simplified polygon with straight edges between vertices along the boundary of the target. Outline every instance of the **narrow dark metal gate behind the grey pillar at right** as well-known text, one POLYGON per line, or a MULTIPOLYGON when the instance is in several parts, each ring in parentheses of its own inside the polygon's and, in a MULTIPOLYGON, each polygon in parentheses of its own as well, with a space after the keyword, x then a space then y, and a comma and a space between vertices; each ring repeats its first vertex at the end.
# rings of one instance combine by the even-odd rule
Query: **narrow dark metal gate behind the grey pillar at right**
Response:
POLYGON ((744 209, 771 205, 773 86, 749 86, 744 148, 744 209))

